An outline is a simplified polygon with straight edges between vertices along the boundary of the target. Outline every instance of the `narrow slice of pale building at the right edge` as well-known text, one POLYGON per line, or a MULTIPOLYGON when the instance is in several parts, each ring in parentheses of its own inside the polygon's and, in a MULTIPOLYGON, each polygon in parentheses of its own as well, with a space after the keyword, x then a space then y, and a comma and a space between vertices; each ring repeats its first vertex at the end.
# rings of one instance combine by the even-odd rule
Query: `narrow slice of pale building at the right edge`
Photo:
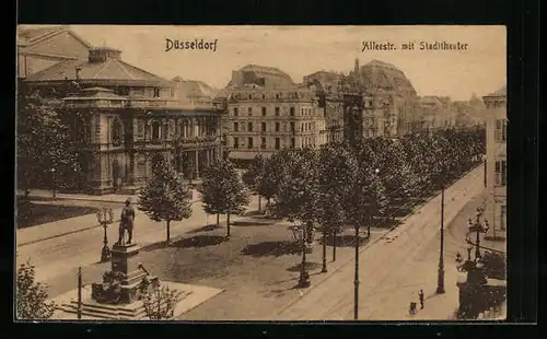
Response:
POLYGON ((486 171, 490 221, 488 237, 503 239, 507 236, 507 185, 508 185, 508 115, 507 87, 482 97, 486 105, 486 171))

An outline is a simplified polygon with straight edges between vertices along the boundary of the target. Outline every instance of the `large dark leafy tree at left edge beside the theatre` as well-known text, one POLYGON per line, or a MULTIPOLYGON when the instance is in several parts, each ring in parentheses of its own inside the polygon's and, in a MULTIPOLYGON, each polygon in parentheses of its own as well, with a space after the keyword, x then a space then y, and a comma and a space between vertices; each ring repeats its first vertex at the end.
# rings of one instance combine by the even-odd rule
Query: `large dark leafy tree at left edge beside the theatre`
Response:
POLYGON ((80 171, 69 127, 55 104, 38 93, 18 97, 16 148, 18 178, 25 194, 33 185, 55 180, 54 175, 71 177, 80 171))

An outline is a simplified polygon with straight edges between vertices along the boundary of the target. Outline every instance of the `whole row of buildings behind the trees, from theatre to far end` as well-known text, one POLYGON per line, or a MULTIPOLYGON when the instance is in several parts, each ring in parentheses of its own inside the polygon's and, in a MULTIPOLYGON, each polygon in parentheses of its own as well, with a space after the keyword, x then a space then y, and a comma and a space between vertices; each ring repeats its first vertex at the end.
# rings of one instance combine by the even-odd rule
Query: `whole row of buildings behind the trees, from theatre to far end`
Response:
MULTIPOLYGON (((248 65, 225 89, 166 80, 92 47, 67 26, 18 32, 21 91, 38 90, 72 114, 81 142, 77 188, 94 194, 136 190, 153 153, 198 178, 228 152, 244 165, 256 154, 361 138, 480 124, 476 104, 418 97, 405 74, 371 61, 349 75, 319 71, 294 83, 281 70, 248 65)), ((480 101, 476 101, 480 105, 480 101)))

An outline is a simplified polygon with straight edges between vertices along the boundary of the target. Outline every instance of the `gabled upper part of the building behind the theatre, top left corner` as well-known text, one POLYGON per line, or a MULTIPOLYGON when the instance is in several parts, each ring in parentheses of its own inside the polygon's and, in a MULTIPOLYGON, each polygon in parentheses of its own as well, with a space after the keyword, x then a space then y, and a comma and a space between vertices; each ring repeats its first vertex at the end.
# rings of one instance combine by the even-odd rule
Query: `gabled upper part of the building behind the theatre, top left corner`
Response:
POLYGON ((91 45, 69 26, 19 25, 18 78, 24 79, 67 60, 84 60, 91 45))

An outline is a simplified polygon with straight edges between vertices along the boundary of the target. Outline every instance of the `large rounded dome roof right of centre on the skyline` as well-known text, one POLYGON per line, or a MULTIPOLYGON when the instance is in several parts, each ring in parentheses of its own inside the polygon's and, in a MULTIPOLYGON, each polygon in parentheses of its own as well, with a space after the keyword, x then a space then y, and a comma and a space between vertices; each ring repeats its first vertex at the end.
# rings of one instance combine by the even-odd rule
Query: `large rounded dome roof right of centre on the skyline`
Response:
POLYGON ((405 73, 395 66, 372 60, 359 69, 359 79, 365 90, 394 90, 404 96, 416 96, 416 90, 405 73))

